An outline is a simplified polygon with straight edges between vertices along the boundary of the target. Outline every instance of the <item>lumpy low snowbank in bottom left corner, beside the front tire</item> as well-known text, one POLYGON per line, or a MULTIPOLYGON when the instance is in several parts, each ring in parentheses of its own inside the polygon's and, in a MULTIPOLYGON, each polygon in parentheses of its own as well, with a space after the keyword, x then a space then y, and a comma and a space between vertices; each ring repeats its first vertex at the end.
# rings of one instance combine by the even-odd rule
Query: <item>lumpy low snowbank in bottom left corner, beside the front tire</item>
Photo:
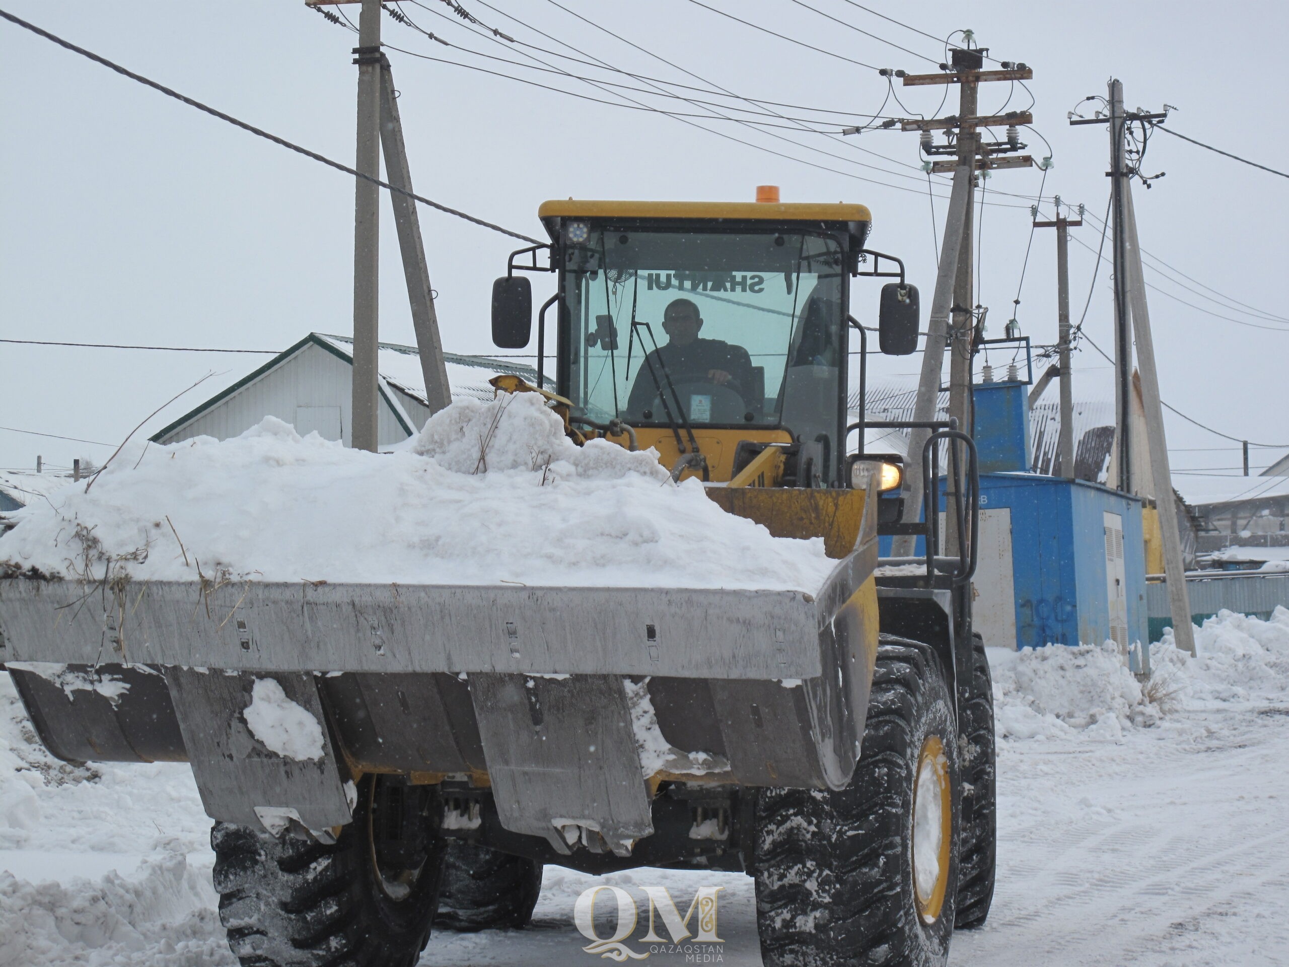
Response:
POLYGON ((139 874, 36 884, 0 872, 0 963, 235 963, 209 869, 173 852, 139 874))

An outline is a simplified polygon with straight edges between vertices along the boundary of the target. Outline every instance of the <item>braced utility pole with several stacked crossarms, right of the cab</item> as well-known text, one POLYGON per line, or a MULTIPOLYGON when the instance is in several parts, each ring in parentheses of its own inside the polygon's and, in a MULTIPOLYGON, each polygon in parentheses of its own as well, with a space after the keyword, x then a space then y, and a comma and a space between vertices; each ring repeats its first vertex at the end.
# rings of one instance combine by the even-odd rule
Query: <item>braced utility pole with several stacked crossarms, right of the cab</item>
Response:
MULTIPOLYGON (((927 344, 922 357, 922 376, 918 383, 918 397, 914 404, 914 420, 933 420, 938 409, 940 386, 944 367, 944 352, 950 347, 949 364, 949 415, 958 419, 958 428, 972 431, 972 357, 976 337, 976 317, 973 304, 974 258, 972 251, 972 209, 976 188, 976 171, 994 168, 1027 168, 1034 164, 1029 155, 1018 157, 999 157, 1023 148, 1016 137, 1016 126, 1031 124, 1034 117, 1027 111, 1012 111, 1005 115, 977 117, 977 93, 980 85, 987 81, 1030 80, 1034 76, 1025 64, 1003 63, 1003 70, 981 70, 985 63, 981 49, 954 49, 950 63, 940 64, 941 73, 905 75, 905 86, 924 86, 938 84, 959 84, 959 113, 940 119, 906 119, 901 130, 922 132, 923 152, 927 155, 953 155, 953 161, 928 162, 928 170, 937 174, 953 171, 954 187, 949 200, 949 215, 945 220, 945 235, 940 254, 940 272, 936 276, 936 293, 931 303, 931 321, 927 329, 927 344), (977 132, 991 125, 1007 125, 1008 139, 995 144, 981 144, 977 132), (955 144, 935 146, 932 132, 958 129, 955 144), (950 326, 950 317, 953 325, 950 326)), ((915 523, 922 517, 923 489, 922 447, 929 431, 914 429, 909 437, 909 463, 904 485, 904 521, 915 523), (910 499, 911 498, 911 499, 910 499)), ((960 454, 965 468, 965 454, 960 454)), ((958 482, 950 480, 946 491, 950 495, 958 490, 958 482)), ((936 508, 927 508, 936 513, 936 508)), ((954 527, 945 529, 945 552, 958 553, 958 532, 954 527)), ((893 542, 896 557, 911 557, 914 538, 898 536, 893 542)))

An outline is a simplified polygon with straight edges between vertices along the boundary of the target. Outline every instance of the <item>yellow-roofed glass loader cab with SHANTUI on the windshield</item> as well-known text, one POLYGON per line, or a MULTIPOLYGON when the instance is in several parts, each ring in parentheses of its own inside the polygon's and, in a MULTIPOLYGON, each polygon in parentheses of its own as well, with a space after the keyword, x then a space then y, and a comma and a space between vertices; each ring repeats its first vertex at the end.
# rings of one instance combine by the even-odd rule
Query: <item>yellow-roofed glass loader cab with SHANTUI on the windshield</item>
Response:
MULTIPOLYGON (((776 445, 790 451, 793 485, 848 485, 849 278, 877 273, 861 272, 873 267, 865 206, 568 200, 539 217, 550 244, 512 255, 494 290, 494 339, 528 340, 517 272, 554 272, 539 352, 544 369, 553 308, 548 388, 571 402, 574 424, 626 423, 666 467, 701 454, 712 482, 776 445)), ((916 339, 915 300, 906 327, 916 339)))

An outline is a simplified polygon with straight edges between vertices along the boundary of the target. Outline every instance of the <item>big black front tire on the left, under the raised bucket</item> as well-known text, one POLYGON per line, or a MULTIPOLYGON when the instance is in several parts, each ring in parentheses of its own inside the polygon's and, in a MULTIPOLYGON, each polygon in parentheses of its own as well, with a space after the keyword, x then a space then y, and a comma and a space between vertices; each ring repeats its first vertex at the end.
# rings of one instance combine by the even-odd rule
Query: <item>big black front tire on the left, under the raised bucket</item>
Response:
POLYGON ((242 967, 411 967, 442 869, 432 802, 427 786, 366 776, 353 821, 330 845, 217 823, 219 919, 242 967))

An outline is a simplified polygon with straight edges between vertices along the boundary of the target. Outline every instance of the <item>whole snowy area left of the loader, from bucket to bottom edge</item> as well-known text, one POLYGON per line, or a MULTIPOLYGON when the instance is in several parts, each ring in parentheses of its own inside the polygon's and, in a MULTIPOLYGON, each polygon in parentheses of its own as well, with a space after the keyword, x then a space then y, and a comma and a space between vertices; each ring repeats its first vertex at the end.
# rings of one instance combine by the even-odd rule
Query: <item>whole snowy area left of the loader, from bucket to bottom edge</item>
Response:
POLYGON ((0 964, 235 967, 186 763, 59 762, 0 673, 0 964))

